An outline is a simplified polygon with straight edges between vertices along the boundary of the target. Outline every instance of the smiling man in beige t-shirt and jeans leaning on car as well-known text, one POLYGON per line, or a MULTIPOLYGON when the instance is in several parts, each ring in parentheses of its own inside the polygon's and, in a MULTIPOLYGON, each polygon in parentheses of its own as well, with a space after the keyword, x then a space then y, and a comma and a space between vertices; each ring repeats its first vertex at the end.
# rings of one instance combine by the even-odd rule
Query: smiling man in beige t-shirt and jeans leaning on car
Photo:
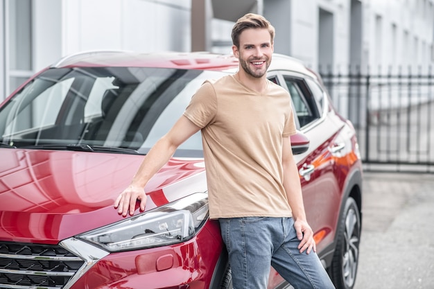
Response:
POLYGON ((234 75, 205 82, 183 116, 146 155, 114 207, 126 216, 144 186, 177 146, 201 130, 209 217, 218 219, 235 289, 267 288, 270 265, 295 288, 334 288, 306 222, 300 177, 290 147, 295 133, 288 92, 270 82, 275 29, 260 15, 238 19, 234 75))

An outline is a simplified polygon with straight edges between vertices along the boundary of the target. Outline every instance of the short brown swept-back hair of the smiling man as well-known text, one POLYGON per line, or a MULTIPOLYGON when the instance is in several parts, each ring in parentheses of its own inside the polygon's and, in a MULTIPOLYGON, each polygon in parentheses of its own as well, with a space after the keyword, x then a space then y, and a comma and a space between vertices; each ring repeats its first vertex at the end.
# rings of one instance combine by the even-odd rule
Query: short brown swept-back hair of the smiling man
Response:
POLYGON ((270 24, 270 21, 261 15, 248 13, 238 19, 232 28, 232 43, 236 47, 240 47, 240 35, 243 30, 248 28, 266 28, 270 33, 271 43, 275 40, 275 28, 270 24))

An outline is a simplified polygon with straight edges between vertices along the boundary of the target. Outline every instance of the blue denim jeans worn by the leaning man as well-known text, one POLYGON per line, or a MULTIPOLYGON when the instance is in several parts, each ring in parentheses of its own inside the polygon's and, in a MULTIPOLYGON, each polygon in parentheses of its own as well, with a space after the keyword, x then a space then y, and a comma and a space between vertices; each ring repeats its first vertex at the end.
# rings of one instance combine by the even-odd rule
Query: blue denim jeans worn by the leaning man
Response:
POLYGON ((295 289, 335 288, 318 255, 300 254, 293 218, 219 219, 234 289, 266 289, 270 265, 295 289))

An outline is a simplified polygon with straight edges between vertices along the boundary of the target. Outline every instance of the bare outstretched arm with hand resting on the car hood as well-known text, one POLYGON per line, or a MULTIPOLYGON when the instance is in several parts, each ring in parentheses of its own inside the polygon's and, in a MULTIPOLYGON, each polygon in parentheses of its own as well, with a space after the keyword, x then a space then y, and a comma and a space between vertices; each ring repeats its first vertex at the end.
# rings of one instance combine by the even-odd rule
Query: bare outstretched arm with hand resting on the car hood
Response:
POLYGON ((140 200, 140 210, 144 211, 146 204, 144 187, 149 179, 167 163, 177 147, 198 132, 198 130, 200 128, 197 125, 185 116, 181 116, 175 125, 173 125, 173 128, 155 143, 153 148, 148 152, 148 155, 144 157, 144 161, 142 161, 139 170, 137 170, 137 173, 132 178, 130 186, 114 202, 114 208, 118 209, 119 214, 125 217, 129 211, 130 215, 132 215, 137 200, 140 200))

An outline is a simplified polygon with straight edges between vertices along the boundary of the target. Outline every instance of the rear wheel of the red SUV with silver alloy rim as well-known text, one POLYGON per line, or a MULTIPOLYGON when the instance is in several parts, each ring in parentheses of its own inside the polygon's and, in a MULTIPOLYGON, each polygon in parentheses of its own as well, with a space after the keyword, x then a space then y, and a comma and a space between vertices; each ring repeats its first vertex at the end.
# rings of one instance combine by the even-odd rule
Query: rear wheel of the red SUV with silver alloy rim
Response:
POLYGON ((351 289, 356 282, 358 245, 361 236, 361 213, 356 201, 349 197, 339 221, 338 241, 330 267, 336 289, 351 289))

